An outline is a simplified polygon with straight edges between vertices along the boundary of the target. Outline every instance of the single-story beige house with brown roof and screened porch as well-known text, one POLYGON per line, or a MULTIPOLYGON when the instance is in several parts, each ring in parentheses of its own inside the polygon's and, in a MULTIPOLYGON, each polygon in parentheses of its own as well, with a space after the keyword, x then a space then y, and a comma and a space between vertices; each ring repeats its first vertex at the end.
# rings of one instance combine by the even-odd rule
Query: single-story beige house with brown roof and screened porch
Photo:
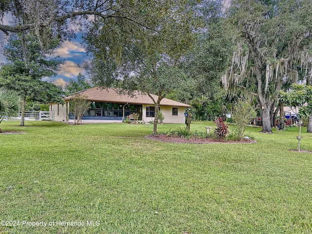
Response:
MULTIPOLYGON (((82 123, 122 122, 130 114, 139 114, 138 120, 154 121, 155 105, 153 100, 141 92, 129 96, 120 94, 113 88, 94 87, 78 92, 91 101, 91 107, 82 117, 82 123)), ((77 94, 77 93, 76 93, 77 94)), ((74 122, 69 112, 70 100, 75 94, 64 98, 65 104, 50 104, 50 111, 54 112, 55 121, 74 122)), ((158 96, 152 95, 157 100, 158 96)), ((160 101, 160 111, 164 115, 164 123, 184 123, 186 108, 192 106, 163 98, 160 101)))

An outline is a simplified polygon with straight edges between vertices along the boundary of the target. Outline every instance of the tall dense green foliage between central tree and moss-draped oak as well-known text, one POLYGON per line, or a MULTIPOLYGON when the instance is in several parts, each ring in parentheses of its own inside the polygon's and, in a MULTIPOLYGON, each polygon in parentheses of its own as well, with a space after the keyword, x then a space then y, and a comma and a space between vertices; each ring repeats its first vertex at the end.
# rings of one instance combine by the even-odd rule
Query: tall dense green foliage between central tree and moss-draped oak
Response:
POLYGON ((203 28, 197 34, 194 48, 186 56, 185 70, 191 85, 187 92, 183 91, 188 96, 181 101, 190 100, 196 116, 222 116, 229 101, 220 87, 220 78, 232 51, 232 35, 222 17, 219 2, 201 2, 196 6, 196 13, 202 18, 203 28))

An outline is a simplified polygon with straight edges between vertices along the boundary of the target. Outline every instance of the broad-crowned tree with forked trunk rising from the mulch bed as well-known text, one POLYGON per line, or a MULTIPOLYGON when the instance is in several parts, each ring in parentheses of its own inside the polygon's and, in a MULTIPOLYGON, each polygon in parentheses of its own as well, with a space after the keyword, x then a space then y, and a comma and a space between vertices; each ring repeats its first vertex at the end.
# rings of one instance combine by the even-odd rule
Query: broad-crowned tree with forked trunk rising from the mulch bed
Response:
POLYGON ((192 31, 196 28, 196 20, 192 5, 182 1, 174 3, 167 5, 161 20, 155 22, 156 31, 142 32, 147 39, 134 32, 125 33, 122 24, 113 29, 114 38, 98 31, 91 31, 86 38, 92 41, 88 50, 94 55, 89 67, 93 83, 104 87, 117 86, 128 93, 139 90, 147 94, 155 104, 154 135, 160 101, 177 87, 187 85, 182 58, 195 40, 192 31), (122 48, 120 56, 116 53, 119 47, 122 48), (154 99, 151 94, 158 98, 154 99))

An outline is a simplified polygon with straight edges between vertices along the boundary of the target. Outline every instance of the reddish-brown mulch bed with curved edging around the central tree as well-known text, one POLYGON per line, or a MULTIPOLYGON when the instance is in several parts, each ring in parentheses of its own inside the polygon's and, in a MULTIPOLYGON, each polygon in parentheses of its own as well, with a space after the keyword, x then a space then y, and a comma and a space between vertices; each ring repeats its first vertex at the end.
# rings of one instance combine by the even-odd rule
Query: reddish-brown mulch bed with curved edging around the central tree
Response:
POLYGON ((160 135, 148 135, 145 136, 146 139, 150 140, 158 140, 163 142, 173 142, 173 143, 184 143, 184 144, 211 144, 211 143, 223 143, 223 144, 244 144, 244 143, 255 143, 256 140, 253 139, 241 139, 241 140, 218 140, 218 139, 211 139, 211 138, 195 138, 191 137, 190 139, 180 138, 177 136, 170 136, 168 137, 165 134, 160 135))

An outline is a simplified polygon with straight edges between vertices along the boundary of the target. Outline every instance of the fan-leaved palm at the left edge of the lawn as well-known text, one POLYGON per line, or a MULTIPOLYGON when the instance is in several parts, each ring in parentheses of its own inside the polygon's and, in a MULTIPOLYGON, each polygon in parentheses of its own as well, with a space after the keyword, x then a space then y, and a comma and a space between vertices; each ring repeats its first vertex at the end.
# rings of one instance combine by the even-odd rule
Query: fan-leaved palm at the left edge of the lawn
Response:
MULTIPOLYGON (((17 92, 0 88, 0 123, 4 117, 14 117, 20 109, 20 96, 17 92)), ((0 128, 1 133, 1 128, 0 128)))

